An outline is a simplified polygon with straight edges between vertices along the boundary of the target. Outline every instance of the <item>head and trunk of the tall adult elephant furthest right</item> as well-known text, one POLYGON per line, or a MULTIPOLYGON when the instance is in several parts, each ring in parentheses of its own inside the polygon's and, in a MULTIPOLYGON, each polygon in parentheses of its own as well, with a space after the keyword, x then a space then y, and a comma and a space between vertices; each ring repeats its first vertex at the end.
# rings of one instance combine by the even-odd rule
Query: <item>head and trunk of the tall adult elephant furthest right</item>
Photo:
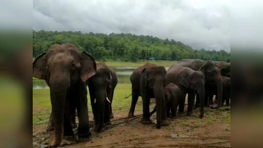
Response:
POLYGON ((219 108, 222 106, 222 93, 223 93, 223 80, 220 73, 220 70, 214 62, 207 61, 199 69, 205 77, 205 85, 216 85, 217 86, 217 95, 218 95, 218 104, 212 108, 219 108))

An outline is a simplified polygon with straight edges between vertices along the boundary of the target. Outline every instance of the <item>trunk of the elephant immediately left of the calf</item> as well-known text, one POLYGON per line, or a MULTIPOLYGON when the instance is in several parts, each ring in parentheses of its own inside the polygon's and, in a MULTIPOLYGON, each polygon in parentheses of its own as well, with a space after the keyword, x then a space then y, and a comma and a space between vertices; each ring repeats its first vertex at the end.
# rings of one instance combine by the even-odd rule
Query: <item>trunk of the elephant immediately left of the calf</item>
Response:
POLYGON ((153 92, 155 95, 155 102, 156 102, 156 120, 157 120, 157 129, 161 128, 162 123, 162 103, 163 103, 163 88, 160 87, 163 85, 154 85, 153 92))

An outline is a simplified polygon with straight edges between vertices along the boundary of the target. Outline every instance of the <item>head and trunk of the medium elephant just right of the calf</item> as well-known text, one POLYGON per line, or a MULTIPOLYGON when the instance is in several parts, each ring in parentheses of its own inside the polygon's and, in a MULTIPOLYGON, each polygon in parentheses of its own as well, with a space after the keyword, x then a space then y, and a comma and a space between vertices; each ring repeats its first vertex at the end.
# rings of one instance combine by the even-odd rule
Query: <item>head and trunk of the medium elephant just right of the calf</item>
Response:
MULTIPOLYGON (((203 117, 203 106, 204 106, 204 75, 200 71, 195 71, 191 74, 184 74, 180 84, 186 89, 195 90, 200 97, 200 117, 203 117)), ((189 100, 188 100, 189 101, 189 100)), ((188 102, 189 103, 189 102, 188 102)))

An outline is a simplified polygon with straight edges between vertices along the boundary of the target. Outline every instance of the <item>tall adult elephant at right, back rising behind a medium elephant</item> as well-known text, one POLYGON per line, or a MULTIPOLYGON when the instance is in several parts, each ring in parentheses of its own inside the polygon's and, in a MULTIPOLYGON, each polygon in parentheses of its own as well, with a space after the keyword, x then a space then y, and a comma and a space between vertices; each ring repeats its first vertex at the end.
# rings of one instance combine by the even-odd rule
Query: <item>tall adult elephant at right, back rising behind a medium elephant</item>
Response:
MULTIPOLYGON (((216 109, 222 106, 222 91, 223 91, 223 80, 220 73, 220 70, 216 66, 214 62, 211 61, 203 61, 200 59, 182 59, 176 66, 189 67, 195 71, 201 71, 205 78, 205 90, 210 86, 216 86, 217 88, 217 96, 218 96, 218 104, 213 105, 211 108, 216 109)), ((199 98, 197 95, 197 107, 199 106, 199 98)))

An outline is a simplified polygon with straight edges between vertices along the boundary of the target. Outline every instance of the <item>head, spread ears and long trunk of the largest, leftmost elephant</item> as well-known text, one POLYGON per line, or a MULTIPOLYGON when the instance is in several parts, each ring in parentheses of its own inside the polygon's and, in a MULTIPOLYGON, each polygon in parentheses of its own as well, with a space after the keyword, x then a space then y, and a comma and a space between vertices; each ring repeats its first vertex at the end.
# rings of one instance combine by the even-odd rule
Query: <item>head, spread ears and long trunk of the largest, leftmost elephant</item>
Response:
POLYGON ((55 140, 52 146, 59 146, 63 138, 68 89, 77 82, 85 82, 94 74, 96 74, 94 58, 85 52, 81 53, 69 43, 51 46, 46 54, 38 56, 33 62, 33 76, 44 79, 50 87, 55 129, 55 140))

